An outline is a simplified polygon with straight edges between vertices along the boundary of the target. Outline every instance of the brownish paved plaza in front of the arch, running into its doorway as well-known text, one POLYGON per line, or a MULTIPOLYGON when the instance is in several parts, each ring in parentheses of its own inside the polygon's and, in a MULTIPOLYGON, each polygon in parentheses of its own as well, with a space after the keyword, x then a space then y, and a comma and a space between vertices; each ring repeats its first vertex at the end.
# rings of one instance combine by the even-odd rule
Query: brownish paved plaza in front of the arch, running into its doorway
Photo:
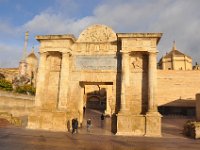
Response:
POLYGON ((116 136, 109 131, 109 118, 104 126, 98 117, 100 112, 87 113, 93 126, 86 131, 85 124, 78 134, 28 130, 10 126, 1 121, 0 150, 199 150, 200 140, 182 135, 183 123, 188 118, 164 117, 162 119, 162 137, 116 136), (93 114, 93 115, 91 115, 93 114))

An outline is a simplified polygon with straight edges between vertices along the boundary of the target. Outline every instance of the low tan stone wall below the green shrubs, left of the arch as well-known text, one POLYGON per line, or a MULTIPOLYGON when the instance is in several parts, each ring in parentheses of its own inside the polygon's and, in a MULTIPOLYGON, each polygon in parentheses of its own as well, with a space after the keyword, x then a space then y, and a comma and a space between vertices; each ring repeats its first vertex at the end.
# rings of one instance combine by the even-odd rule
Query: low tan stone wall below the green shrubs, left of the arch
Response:
POLYGON ((34 107, 34 96, 0 91, 0 112, 8 112, 13 116, 29 114, 34 107))

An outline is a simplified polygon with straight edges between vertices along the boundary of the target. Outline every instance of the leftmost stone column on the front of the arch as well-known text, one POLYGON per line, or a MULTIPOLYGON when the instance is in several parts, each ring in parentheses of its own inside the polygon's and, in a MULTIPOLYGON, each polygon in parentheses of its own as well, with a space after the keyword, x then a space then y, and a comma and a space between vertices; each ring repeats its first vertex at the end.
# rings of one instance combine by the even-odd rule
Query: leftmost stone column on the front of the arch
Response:
POLYGON ((40 63, 38 67, 37 83, 36 83, 36 96, 35 106, 41 107, 42 100, 44 100, 45 92, 45 74, 46 74, 46 59, 47 53, 40 53, 40 63))

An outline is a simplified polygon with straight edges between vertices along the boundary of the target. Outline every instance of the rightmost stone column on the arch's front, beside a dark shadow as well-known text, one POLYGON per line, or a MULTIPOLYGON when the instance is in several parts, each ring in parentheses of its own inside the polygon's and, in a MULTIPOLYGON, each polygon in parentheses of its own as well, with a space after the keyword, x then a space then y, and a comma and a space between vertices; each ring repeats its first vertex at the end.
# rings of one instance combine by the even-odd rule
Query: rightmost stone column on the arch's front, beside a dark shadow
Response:
POLYGON ((156 52, 149 53, 148 63, 148 112, 157 111, 155 108, 155 95, 156 95, 156 84, 157 84, 157 63, 156 63, 156 52))

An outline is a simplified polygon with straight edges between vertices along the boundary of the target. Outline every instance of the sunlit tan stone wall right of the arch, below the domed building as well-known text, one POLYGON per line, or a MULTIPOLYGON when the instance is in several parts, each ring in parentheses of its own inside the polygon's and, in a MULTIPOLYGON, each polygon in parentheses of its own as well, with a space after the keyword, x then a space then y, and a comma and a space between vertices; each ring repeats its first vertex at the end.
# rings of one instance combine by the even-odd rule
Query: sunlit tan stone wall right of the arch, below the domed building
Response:
POLYGON ((200 92, 200 71, 158 70, 158 106, 195 107, 200 92))

